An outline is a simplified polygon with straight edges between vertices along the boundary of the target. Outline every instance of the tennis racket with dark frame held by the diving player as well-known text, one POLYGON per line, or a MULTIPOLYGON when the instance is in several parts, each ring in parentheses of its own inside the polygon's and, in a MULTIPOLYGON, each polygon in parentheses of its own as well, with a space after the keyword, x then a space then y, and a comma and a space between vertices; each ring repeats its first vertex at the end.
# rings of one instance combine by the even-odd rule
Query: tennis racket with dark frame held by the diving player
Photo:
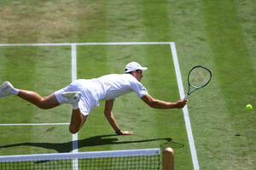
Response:
POLYGON ((211 81, 211 78, 212 78, 212 72, 206 67, 203 67, 201 65, 197 65, 193 67, 189 71, 189 76, 188 76, 188 83, 189 83, 188 93, 186 94, 183 100, 188 99, 189 95, 195 92, 195 90, 198 90, 200 88, 207 86, 207 84, 211 81))

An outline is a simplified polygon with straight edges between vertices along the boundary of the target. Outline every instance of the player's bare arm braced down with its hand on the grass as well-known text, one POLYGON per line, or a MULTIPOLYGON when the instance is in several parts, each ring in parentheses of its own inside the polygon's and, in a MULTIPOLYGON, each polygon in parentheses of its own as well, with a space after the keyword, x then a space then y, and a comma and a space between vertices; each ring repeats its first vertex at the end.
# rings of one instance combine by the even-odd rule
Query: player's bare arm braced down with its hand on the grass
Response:
POLYGON ((130 131, 122 131, 119 128, 118 123, 115 121, 115 118, 113 116, 113 99, 107 100, 105 102, 105 110, 104 110, 104 114, 106 116, 106 118, 108 119, 109 124, 111 125, 111 127, 113 127, 113 130, 118 133, 119 135, 131 135, 133 134, 130 131))

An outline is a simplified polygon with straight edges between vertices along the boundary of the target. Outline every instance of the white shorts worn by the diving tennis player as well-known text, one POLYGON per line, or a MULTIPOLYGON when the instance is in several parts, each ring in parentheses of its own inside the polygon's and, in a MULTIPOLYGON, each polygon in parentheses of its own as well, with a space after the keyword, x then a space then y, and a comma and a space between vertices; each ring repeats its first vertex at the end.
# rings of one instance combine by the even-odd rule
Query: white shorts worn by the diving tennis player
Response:
POLYGON ((60 104, 69 103, 67 98, 64 98, 61 94, 64 92, 81 92, 82 96, 79 100, 79 109, 84 116, 90 114, 90 111, 96 106, 96 99, 93 95, 88 93, 88 88, 86 86, 86 80, 80 79, 72 82, 66 88, 62 88, 55 92, 55 97, 60 104))

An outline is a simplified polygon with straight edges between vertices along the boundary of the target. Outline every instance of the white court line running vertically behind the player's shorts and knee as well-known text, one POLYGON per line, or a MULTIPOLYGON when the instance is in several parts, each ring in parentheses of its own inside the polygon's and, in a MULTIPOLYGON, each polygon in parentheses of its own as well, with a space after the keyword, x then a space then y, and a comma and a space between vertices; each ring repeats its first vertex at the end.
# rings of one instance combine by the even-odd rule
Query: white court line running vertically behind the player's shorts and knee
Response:
MULTIPOLYGON (((71 46, 71 65, 72 65, 72 82, 77 79, 77 46, 75 43, 71 46)), ((78 144, 78 133, 75 133, 73 136, 73 153, 79 152, 79 144, 78 144)), ((79 170, 79 160, 73 159, 73 170, 79 170)))

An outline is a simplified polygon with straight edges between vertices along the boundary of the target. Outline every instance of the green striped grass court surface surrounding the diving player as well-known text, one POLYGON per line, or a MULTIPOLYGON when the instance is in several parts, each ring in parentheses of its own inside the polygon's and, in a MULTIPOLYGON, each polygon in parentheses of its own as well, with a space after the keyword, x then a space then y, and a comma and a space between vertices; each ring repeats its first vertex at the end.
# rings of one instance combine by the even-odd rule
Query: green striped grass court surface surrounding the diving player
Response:
MULTIPOLYGON (((255 106, 252 111, 245 106, 256 105, 255 11, 250 0, 0 0, 0 43, 176 42, 184 87, 192 66, 212 70, 212 82, 191 95, 188 105, 201 169, 253 169, 256 112, 255 106)), ((70 50, 1 47, 0 81, 8 79, 17 88, 50 94, 71 80, 70 50)), ((79 46, 78 77, 121 73, 131 60, 148 66, 142 82, 150 94, 177 100, 172 55, 166 45, 79 46)), ((193 168, 182 111, 153 110, 136 94, 125 95, 115 101, 113 113, 122 129, 135 135, 119 137, 106 136, 113 130, 102 114, 103 105, 95 108, 79 133, 79 151, 159 147, 165 143, 162 138, 172 138, 177 169, 193 168)), ((62 105, 41 111, 9 97, 0 100, 0 122, 69 122, 70 109, 62 105)), ((1 148, 0 153, 67 151, 61 149, 70 147, 67 129, 0 127, 1 145, 20 144, 1 148), (29 135, 22 135, 25 132, 29 135)))

